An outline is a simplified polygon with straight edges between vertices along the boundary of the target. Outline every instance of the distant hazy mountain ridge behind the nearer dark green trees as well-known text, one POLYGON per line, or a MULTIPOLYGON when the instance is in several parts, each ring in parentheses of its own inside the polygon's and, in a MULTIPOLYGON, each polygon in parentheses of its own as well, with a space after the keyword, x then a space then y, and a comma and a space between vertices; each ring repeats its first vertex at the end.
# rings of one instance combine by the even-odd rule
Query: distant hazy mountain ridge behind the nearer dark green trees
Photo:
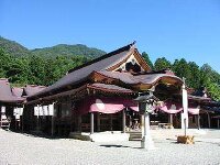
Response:
POLYGON ((6 53, 12 56, 21 57, 21 56, 43 56, 43 57, 57 57, 57 56, 86 56, 87 58, 96 58, 106 54, 106 52, 87 47, 86 45, 77 44, 77 45, 66 45, 59 44, 52 47, 45 48, 35 48, 35 50, 28 50, 26 47, 22 46, 21 44, 3 38, 0 36, 0 48, 2 48, 6 53))

